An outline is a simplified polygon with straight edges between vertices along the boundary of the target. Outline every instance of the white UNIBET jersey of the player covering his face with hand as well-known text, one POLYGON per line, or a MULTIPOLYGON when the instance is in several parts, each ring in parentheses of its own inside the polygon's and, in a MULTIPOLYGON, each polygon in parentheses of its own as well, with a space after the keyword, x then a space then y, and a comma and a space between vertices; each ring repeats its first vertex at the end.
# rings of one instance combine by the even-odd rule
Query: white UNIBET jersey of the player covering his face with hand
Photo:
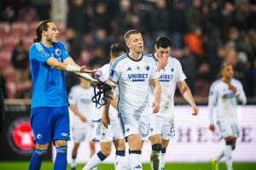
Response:
MULTIPOLYGON (((154 59, 156 58, 154 57, 154 59)), ((160 101, 160 111, 156 114, 157 116, 174 117, 174 94, 176 84, 177 82, 183 81, 185 79, 186 76, 183 73, 183 69, 180 62, 172 56, 169 56, 168 64, 164 69, 160 71, 159 81, 162 88, 162 94, 160 101)), ((152 94, 150 96, 150 100, 153 102, 153 90, 151 90, 150 94, 152 94)))

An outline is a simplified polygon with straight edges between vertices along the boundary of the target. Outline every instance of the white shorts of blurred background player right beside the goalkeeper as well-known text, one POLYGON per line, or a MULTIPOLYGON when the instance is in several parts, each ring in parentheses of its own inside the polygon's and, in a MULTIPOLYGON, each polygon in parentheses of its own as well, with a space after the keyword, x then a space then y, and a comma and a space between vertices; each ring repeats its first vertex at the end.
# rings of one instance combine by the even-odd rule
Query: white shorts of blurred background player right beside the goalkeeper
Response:
POLYGON ((82 141, 99 141, 100 122, 88 123, 86 127, 72 127, 72 136, 75 143, 82 141))

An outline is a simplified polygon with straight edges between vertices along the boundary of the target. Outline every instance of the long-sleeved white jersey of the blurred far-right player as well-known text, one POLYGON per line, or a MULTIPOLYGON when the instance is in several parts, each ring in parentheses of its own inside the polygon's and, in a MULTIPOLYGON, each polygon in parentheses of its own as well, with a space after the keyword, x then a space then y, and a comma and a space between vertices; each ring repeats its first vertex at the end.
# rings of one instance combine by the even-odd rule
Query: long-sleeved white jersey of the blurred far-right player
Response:
POLYGON ((241 86, 241 82, 236 79, 231 80, 231 84, 236 87, 237 92, 234 94, 226 82, 221 79, 212 83, 210 88, 208 106, 210 112, 210 123, 213 124, 213 109, 216 107, 217 120, 237 120, 238 101, 245 105, 247 98, 241 86), (238 95, 239 94, 239 95, 238 95))

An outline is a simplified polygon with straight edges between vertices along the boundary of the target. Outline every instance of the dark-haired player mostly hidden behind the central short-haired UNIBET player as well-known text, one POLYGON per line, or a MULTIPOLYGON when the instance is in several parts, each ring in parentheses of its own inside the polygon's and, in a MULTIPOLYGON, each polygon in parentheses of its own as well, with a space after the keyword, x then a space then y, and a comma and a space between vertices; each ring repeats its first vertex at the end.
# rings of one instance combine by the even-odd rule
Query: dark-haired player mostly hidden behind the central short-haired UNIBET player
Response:
MULTIPOLYGON (((99 79, 102 80, 102 82, 108 80, 110 66, 112 65, 113 61, 122 54, 125 54, 125 52, 126 49, 119 43, 114 43, 111 45, 110 63, 107 65, 103 65, 102 68, 96 72, 96 74, 98 75, 99 79)), ((117 95, 117 88, 115 89, 115 94, 117 95)), ((114 163, 115 169, 126 169, 125 139, 118 119, 118 111, 116 110, 117 101, 115 96, 113 96, 113 100, 111 102, 112 105, 110 105, 109 108, 109 117, 106 115, 102 115, 102 121, 107 122, 107 119, 109 119, 110 124, 108 125, 108 127, 105 127, 103 125, 101 126, 101 151, 99 151, 96 155, 91 157, 90 161, 87 162, 83 170, 90 170, 91 168, 96 167, 97 164, 104 161, 111 153, 112 142, 116 149, 114 163)))

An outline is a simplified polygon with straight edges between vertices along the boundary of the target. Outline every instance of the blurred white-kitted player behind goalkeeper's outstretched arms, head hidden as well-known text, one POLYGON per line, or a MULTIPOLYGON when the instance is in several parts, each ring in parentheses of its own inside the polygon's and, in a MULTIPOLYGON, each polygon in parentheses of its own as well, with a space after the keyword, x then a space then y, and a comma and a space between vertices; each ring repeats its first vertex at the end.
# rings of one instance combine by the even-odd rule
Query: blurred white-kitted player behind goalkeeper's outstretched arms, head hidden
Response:
POLYGON ((91 101, 91 98, 94 96, 94 89, 90 86, 90 82, 83 78, 79 78, 79 80, 79 85, 73 86, 68 96, 69 108, 74 113, 72 127, 74 141, 71 161, 72 170, 76 169, 77 151, 82 141, 85 139, 89 141, 90 157, 96 153, 95 142, 98 140, 96 131, 99 130, 95 130, 99 127, 96 121, 102 116, 102 113, 97 111, 95 104, 91 101))

